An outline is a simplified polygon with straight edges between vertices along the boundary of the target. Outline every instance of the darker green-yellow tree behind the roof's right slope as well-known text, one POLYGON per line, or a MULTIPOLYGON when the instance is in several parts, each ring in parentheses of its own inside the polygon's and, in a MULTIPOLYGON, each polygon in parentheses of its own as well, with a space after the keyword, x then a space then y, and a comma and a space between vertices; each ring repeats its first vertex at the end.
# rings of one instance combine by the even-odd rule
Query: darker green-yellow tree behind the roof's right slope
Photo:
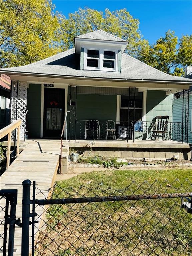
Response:
POLYGON ((167 74, 182 76, 184 67, 192 65, 192 36, 178 37, 174 31, 167 31, 146 50, 141 60, 167 74))

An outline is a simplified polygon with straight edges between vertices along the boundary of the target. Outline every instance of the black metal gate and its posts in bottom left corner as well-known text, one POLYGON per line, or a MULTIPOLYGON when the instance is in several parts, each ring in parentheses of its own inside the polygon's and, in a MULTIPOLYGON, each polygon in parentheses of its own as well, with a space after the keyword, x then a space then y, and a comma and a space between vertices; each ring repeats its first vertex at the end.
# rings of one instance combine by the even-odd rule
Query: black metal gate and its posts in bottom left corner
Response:
MULTIPOLYGON (((16 219, 16 205, 17 205, 17 189, 1 189, 0 191, 0 200, 5 200, 5 204, 1 204, 1 227, 3 231, 0 234, 0 252, 3 253, 3 256, 13 256, 14 249, 14 238, 15 238, 15 225, 22 228, 22 237, 21 237, 21 255, 29 255, 29 226, 32 225, 32 232, 34 230, 34 224, 38 221, 35 221, 35 182, 33 189, 33 200, 30 200, 30 187, 31 181, 25 180, 22 183, 23 193, 22 193, 22 223, 20 218, 16 219), (32 213, 30 213, 30 205, 33 204, 32 213), (2 206, 3 205, 3 206, 2 206), (10 205, 10 209, 9 209, 10 205), (4 214, 4 217, 2 216, 4 214), (32 217, 32 221, 30 218, 32 217), (3 219, 4 218, 4 219, 3 219), (3 219, 3 220, 2 220, 3 219), (9 235, 8 235, 9 234, 9 235), (7 246, 7 236, 8 236, 8 246, 7 246)), ((1 201, 2 202, 2 201, 1 201)), ((34 239, 32 239, 34 241, 34 239)), ((34 246, 32 253, 34 255, 34 246)))

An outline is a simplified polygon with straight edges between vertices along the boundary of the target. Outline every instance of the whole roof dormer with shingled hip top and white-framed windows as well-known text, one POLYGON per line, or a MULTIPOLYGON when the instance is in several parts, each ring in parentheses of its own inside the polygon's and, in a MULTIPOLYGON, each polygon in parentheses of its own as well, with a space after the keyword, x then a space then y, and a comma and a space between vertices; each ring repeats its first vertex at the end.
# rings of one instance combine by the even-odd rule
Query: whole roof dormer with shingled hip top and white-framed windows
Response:
POLYGON ((80 69, 121 72, 121 55, 128 42, 103 30, 75 37, 80 69))

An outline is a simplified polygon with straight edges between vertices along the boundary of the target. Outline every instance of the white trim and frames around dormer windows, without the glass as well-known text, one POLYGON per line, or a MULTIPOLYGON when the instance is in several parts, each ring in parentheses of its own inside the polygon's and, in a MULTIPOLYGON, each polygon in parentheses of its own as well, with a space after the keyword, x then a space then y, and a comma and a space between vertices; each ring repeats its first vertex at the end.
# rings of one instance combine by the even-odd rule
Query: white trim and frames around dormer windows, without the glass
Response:
MULTIPOLYGON (((83 47, 83 46, 82 46, 83 47)), ((91 45, 84 48, 84 68, 85 70, 101 70, 101 71, 118 71, 118 50, 114 49, 114 47, 102 47, 102 48, 93 48, 91 45), (88 50, 96 50, 98 51, 98 57, 88 57, 87 51, 88 50), (111 51, 114 52, 114 59, 104 58, 104 51, 111 51), (98 67, 90 67, 87 65, 87 61, 89 59, 98 60, 98 67), (103 62, 106 61, 114 61, 114 68, 107 68, 103 67, 103 62)))

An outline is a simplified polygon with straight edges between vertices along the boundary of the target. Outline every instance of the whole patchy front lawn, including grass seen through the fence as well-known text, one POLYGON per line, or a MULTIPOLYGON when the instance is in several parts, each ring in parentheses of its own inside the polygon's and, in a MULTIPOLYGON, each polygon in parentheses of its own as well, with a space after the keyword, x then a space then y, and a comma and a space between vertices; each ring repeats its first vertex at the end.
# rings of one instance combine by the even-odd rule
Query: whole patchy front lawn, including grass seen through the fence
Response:
MULTIPOLYGON (((52 198, 192 192, 192 170, 106 170, 60 181, 52 198)), ((192 215, 180 198, 51 205, 38 255, 192 254, 192 215)))

